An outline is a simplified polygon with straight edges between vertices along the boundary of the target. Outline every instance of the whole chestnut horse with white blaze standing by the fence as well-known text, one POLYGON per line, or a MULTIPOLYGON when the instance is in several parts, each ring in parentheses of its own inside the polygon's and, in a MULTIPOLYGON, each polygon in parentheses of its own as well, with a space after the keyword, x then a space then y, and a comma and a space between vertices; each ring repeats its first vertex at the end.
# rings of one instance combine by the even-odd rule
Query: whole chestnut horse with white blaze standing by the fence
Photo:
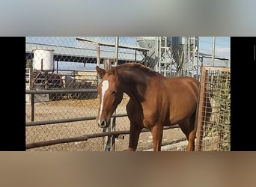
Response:
POLYGON ((195 150, 195 113, 199 82, 192 77, 167 78, 138 63, 126 63, 109 70, 96 67, 100 108, 98 126, 109 126, 110 118, 124 93, 129 96, 130 120, 128 150, 136 150, 143 128, 150 129, 153 150, 160 151, 164 126, 178 124, 186 135, 186 150, 195 150))

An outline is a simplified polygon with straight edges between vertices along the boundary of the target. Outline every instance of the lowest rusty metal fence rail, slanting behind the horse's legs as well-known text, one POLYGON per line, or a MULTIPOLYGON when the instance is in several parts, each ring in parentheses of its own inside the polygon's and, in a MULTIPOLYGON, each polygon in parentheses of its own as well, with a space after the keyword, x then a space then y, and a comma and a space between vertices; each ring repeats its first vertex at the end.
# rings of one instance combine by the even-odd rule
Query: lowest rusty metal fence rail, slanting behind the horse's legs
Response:
MULTIPOLYGON (((174 128, 180 128, 180 126, 175 125, 175 126, 168 126, 165 127, 164 129, 174 129, 174 128)), ((142 129, 141 132, 150 132, 148 129, 142 129)), ((49 145, 54 145, 54 144, 64 144, 64 143, 70 143, 70 142, 75 142, 75 141, 88 141, 90 138, 100 138, 104 136, 109 136, 112 135, 115 138, 117 138, 119 135, 127 135, 129 134, 129 131, 115 131, 115 132, 101 132, 101 133, 94 133, 94 134, 89 134, 89 135, 82 135, 78 137, 73 137, 73 138, 63 138, 63 139, 57 139, 57 140, 50 140, 50 141, 40 141, 36 143, 31 143, 31 144, 26 144, 25 149, 32 149, 36 147, 45 147, 49 145)))

